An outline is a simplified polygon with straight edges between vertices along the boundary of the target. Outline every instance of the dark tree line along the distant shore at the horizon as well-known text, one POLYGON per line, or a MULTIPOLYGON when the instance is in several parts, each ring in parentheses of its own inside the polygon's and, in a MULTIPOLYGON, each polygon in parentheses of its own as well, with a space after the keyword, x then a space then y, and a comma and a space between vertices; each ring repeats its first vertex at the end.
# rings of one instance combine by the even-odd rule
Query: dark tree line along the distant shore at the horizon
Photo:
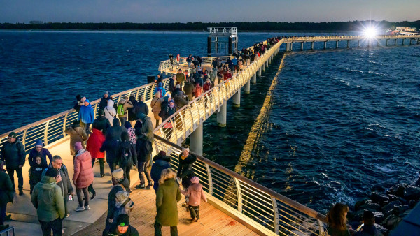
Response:
POLYGON ((237 27, 241 31, 360 31, 363 26, 377 25, 381 28, 416 27, 420 29, 420 20, 415 22, 387 21, 351 21, 351 22, 219 22, 219 23, 74 23, 48 22, 36 24, 0 23, 0 29, 76 29, 76 30, 174 30, 207 31, 207 27, 237 27))

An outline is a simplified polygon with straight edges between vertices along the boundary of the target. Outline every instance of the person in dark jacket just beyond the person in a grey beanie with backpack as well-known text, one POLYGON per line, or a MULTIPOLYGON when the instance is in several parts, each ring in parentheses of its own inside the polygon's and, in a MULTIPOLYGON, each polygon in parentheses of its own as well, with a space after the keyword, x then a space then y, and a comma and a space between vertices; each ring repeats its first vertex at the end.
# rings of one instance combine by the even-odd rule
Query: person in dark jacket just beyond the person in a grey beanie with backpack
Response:
MULTIPOLYGON (((130 183, 130 170, 137 165, 137 152, 127 132, 121 134, 121 142, 117 151, 117 165, 123 168, 124 175, 130 183)), ((130 191, 130 189, 128 189, 130 191)))

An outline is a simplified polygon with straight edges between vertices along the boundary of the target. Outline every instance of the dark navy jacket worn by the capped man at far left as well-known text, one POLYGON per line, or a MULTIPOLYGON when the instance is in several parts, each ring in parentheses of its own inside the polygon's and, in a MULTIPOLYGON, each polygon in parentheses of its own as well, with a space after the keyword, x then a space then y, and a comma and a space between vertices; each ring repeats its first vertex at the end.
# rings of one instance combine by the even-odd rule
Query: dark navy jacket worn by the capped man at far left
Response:
POLYGON ((4 142, 0 159, 4 161, 7 168, 19 168, 19 165, 25 165, 25 147, 19 138, 16 138, 13 143, 4 142))

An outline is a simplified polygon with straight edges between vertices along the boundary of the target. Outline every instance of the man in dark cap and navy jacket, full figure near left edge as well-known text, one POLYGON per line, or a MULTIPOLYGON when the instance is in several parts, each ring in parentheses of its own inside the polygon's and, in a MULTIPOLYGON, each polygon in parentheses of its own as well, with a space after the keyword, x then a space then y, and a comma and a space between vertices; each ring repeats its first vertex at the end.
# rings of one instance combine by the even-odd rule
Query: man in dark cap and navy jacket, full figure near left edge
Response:
POLYGON ((25 165, 26 152, 18 138, 18 134, 11 132, 8 135, 8 142, 3 144, 0 160, 6 163, 6 170, 15 189, 15 171, 18 175, 19 195, 23 195, 22 166, 25 165))

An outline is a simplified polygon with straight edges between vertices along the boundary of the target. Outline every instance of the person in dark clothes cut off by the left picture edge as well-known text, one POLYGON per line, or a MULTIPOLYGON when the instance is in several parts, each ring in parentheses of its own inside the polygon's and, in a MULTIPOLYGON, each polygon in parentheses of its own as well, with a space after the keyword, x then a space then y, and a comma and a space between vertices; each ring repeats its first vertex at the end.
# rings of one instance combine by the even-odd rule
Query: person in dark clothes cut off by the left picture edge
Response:
POLYGON ((6 220, 6 207, 8 202, 13 202, 13 184, 10 177, 6 174, 6 170, 3 169, 4 162, 0 161, 0 231, 8 228, 8 225, 4 225, 6 220))

